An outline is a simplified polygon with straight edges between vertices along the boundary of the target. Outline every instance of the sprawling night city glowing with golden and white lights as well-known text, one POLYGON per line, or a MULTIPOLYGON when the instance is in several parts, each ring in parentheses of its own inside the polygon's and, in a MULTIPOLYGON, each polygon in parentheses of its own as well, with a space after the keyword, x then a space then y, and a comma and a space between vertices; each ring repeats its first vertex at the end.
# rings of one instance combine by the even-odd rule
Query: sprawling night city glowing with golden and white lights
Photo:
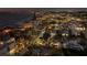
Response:
POLYGON ((30 17, 18 25, 1 28, 0 51, 6 53, 0 54, 63 56, 87 51, 87 20, 78 11, 34 11, 30 17))

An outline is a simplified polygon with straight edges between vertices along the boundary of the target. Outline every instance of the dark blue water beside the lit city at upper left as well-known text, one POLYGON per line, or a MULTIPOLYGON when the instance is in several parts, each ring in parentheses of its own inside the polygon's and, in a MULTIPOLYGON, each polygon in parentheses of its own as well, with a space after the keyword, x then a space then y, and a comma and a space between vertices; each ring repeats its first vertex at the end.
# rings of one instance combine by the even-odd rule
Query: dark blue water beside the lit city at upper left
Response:
POLYGON ((17 26, 32 18, 33 14, 0 13, 0 28, 7 25, 17 26))

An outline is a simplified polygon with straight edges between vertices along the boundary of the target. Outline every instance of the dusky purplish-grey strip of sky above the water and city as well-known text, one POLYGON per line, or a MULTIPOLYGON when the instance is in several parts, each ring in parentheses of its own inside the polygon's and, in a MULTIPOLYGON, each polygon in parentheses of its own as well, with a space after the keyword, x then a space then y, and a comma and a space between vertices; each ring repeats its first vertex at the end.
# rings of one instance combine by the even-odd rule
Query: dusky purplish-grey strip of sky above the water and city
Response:
POLYGON ((30 12, 30 11, 87 11, 86 8, 0 8, 0 12, 30 12))

